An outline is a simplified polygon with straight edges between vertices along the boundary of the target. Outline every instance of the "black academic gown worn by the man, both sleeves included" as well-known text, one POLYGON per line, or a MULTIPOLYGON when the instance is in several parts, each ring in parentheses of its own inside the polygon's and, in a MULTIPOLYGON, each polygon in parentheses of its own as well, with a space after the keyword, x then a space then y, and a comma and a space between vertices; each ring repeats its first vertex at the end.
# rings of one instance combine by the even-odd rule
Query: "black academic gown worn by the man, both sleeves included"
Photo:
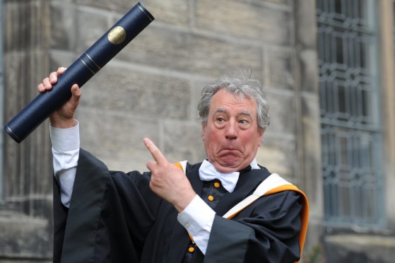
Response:
MULTIPOLYGON (((202 194, 200 163, 187 177, 202 194)), ((199 249, 189 262, 295 262, 302 204, 296 192, 261 197, 232 220, 222 218, 270 173, 241 173, 232 193, 215 206, 206 256, 199 249)), ((190 245, 177 211, 149 188, 150 173, 112 172, 81 149, 70 208, 61 204, 54 180, 54 262, 182 262, 190 245)))

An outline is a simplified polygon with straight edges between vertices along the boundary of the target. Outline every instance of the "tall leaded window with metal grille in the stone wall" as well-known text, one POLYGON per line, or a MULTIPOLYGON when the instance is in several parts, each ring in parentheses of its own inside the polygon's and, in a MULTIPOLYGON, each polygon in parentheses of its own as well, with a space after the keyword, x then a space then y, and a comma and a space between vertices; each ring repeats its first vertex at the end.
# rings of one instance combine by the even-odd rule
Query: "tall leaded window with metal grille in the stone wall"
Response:
POLYGON ((317 0, 324 218, 382 227, 377 3, 317 0))

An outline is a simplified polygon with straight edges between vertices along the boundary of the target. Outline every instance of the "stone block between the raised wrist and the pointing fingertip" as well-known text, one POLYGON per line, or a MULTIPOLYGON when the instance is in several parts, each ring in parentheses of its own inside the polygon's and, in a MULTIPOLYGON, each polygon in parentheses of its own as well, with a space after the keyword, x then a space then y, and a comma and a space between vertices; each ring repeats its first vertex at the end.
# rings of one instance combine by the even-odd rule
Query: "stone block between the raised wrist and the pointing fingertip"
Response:
POLYGON ((130 112, 78 108, 81 147, 102 160, 110 170, 146 170, 151 154, 143 144, 158 142, 158 121, 130 112))

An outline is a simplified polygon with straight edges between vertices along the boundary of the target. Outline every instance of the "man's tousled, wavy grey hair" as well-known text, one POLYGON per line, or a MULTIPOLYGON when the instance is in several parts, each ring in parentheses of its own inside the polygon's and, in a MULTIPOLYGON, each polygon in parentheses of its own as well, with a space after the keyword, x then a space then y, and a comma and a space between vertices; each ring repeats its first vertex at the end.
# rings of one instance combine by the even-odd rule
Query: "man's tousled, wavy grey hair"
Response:
POLYGON ((204 87, 198 103, 201 122, 207 122, 211 99, 219 90, 240 95, 243 98, 254 99, 257 103, 257 119, 259 127, 265 130, 270 124, 269 103, 266 101, 261 84, 256 79, 250 78, 251 73, 244 72, 239 76, 223 75, 213 83, 204 87))

